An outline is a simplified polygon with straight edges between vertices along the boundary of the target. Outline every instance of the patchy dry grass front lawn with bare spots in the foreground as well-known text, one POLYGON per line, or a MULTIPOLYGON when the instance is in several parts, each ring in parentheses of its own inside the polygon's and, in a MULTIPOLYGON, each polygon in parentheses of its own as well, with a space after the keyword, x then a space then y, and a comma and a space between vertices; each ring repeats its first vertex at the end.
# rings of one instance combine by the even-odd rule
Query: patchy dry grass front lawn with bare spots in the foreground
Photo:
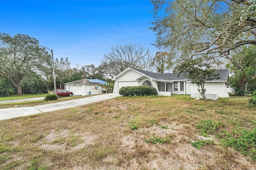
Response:
POLYGON ((0 121, 0 169, 254 170, 243 130, 256 141, 248 97, 117 97, 0 121))

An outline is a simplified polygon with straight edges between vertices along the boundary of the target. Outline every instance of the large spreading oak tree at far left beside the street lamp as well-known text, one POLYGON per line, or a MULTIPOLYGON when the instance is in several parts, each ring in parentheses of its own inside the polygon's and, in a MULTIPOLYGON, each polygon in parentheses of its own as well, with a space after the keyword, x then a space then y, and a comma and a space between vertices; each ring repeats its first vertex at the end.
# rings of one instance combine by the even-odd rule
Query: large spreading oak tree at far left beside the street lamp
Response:
POLYGON ((33 73, 51 72, 51 56, 38 45, 36 38, 25 34, 0 33, 0 75, 10 79, 18 95, 22 95, 24 83, 33 81, 33 73))

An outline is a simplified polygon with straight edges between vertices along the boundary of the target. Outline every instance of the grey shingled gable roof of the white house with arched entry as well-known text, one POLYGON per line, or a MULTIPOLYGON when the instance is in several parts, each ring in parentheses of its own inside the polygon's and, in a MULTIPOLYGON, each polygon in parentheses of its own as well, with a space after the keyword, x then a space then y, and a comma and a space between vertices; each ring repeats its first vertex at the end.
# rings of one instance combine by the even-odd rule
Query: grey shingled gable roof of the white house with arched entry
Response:
MULTIPOLYGON (((156 81, 177 81, 177 80, 191 81, 192 80, 192 79, 188 79, 188 77, 186 77, 184 74, 181 74, 179 77, 177 77, 178 73, 175 73, 175 74, 174 73, 153 73, 150 71, 144 71, 144 70, 129 68, 129 67, 125 69, 122 73, 114 77, 113 80, 116 80, 116 78, 120 77, 122 74, 126 73, 128 70, 136 71, 138 73, 141 73, 142 76, 149 77, 156 81)), ((215 79, 212 81, 228 81, 229 80, 228 69, 215 70, 215 73, 219 73, 220 79, 215 79)))

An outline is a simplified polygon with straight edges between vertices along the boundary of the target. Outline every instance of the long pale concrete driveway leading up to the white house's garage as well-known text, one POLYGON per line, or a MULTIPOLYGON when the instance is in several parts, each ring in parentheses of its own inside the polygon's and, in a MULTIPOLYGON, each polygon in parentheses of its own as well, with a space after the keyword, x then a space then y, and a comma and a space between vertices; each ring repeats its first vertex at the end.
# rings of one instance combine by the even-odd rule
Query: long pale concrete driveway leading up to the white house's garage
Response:
POLYGON ((90 103, 103 101, 103 100, 107 100, 107 99, 112 99, 114 97, 119 97, 119 96, 120 95, 118 93, 107 93, 104 95, 97 95, 97 96, 85 97, 85 98, 81 98, 81 99, 49 103, 49 104, 44 104, 44 105, 0 109, 0 121, 5 120, 5 119, 11 119, 14 117, 22 117, 22 116, 34 115, 34 114, 38 114, 38 113, 67 109, 70 107, 87 105, 90 103))

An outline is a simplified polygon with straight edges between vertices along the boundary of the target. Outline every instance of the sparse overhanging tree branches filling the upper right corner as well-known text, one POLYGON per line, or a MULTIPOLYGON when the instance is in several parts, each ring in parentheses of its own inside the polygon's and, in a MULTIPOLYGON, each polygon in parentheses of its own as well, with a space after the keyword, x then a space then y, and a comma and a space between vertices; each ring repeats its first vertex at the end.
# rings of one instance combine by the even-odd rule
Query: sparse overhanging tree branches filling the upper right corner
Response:
POLYGON ((155 46, 169 49, 176 62, 226 57, 256 44, 255 0, 151 0, 155 46))

